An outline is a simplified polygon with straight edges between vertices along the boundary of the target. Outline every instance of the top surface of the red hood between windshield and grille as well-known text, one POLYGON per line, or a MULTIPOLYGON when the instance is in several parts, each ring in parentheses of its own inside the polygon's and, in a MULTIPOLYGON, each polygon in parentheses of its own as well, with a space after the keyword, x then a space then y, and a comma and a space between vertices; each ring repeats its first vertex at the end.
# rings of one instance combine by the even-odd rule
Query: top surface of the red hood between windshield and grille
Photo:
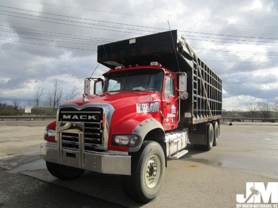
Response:
POLYGON ((117 91, 104 92, 94 95, 88 95, 87 101, 82 101, 82 98, 66 101, 64 103, 76 103, 82 106, 86 103, 110 103, 115 109, 124 106, 130 106, 136 103, 150 103, 153 100, 160 100, 160 93, 157 92, 143 92, 143 91, 117 91))

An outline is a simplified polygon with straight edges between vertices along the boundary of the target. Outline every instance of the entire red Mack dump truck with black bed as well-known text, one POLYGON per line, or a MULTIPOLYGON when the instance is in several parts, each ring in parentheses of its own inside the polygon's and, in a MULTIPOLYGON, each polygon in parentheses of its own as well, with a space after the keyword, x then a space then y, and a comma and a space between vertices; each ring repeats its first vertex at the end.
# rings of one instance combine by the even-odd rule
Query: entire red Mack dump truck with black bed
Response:
POLYGON ((83 97, 59 106, 41 157, 63 180, 84 170, 121 175, 129 197, 149 202, 187 140, 206 150, 217 144, 222 81, 177 30, 99 45, 98 62, 105 80, 86 78, 83 97))

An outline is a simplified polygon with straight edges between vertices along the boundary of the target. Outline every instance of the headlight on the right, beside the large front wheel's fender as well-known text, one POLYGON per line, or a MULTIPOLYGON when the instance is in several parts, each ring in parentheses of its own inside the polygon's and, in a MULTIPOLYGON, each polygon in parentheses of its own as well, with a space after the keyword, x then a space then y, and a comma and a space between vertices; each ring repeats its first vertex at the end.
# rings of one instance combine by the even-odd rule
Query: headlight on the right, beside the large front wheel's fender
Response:
POLYGON ((112 144, 117 146, 135 147, 138 145, 139 137, 137 135, 113 135, 112 144))

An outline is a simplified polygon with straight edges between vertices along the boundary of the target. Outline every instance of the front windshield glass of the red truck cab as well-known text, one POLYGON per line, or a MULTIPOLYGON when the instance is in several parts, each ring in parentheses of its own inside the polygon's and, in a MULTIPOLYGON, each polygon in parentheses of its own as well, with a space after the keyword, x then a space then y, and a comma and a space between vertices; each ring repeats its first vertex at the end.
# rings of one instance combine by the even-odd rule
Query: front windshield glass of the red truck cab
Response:
POLYGON ((105 78, 103 92, 136 90, 161 93, 163 75, 163 71, 154 69, 111 73, 105 78))

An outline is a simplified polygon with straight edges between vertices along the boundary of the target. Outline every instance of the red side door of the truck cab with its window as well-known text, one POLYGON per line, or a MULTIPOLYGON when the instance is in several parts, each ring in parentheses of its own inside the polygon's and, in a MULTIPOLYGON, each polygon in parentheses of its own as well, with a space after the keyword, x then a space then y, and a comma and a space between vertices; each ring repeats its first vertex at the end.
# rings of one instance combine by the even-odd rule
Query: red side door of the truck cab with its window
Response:
POLYGON ((177 127, 178 102, 175 100, 175 79, 171 75, 165 77, 164 97, 162 96, 164 130, 171 130, 177 127), (175 101, 174 101, 175 100, 175 101))

